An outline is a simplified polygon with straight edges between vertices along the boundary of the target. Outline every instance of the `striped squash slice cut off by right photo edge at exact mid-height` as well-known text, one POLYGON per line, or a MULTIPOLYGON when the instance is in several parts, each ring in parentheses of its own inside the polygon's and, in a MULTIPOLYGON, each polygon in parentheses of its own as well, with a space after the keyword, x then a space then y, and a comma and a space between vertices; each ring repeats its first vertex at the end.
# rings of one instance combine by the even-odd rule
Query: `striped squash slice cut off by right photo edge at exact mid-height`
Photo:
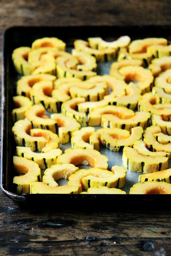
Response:
POLYGON ((161 129, 162 133, 167 134, 167 135, 171 135, 170 119, 169 119, 169 121, 164 121, 162 116, 152 115, 151 121, 152 121, 152 125, 160 126, 160 129, 161 129))

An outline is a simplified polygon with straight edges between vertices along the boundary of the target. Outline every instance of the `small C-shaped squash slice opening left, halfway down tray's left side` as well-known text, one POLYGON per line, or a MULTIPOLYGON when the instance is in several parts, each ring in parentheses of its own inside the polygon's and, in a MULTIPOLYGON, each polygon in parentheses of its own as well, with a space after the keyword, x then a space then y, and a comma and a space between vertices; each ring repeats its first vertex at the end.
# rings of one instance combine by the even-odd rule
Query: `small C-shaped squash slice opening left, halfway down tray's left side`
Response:
POLYGON ((14 105, 17 107, 12 111, 13 122, 25 119, 25 112, 32 106, 32 102, 25 96, 14 96, 14 105))

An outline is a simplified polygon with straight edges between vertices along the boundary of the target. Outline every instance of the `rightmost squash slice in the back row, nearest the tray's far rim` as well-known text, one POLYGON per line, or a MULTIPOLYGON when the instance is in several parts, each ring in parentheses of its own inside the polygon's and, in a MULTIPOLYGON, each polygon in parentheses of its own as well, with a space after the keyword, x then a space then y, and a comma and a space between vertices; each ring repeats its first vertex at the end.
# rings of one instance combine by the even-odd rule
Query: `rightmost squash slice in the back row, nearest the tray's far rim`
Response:
POLYGON ((133 40, 129 45, 130 53, 142 53, 147 51, 147 47, 151 45, 167 45, 168 41, 165 38, 144 38, 133 40))

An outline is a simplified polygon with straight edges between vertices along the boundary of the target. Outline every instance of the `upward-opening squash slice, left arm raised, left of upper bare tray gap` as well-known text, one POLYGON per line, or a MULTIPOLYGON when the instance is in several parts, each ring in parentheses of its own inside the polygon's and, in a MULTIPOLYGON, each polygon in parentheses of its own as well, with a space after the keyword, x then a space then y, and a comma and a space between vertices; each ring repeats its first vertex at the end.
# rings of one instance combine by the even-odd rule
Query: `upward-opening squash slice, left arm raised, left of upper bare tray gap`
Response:
MULTIPOLYGON (((74 57, 74 56, 73 56, 74 57)), ((79 78, 81 80, 87 80, 90 77, 93 77, 97 75, 97 73, 93 71, 79 71, 76 69, 71 69, 67 67, 67 62, 69 61, 69 58, 67 57, 58 57, 56 59, 56 72, 57 72, 57 77, 62 78, 79 78)))

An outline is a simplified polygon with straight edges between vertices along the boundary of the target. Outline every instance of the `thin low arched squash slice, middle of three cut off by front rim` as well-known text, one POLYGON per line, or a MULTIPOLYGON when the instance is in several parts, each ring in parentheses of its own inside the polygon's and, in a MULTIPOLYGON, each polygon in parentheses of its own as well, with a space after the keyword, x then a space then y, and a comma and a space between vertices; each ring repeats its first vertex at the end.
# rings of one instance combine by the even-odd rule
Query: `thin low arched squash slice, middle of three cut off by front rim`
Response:
POLYGON ((125 191, 116 188, 109 188, 104 186, 90 187, 87 192, 81 192, 80 194, 126 194, 125 191))

